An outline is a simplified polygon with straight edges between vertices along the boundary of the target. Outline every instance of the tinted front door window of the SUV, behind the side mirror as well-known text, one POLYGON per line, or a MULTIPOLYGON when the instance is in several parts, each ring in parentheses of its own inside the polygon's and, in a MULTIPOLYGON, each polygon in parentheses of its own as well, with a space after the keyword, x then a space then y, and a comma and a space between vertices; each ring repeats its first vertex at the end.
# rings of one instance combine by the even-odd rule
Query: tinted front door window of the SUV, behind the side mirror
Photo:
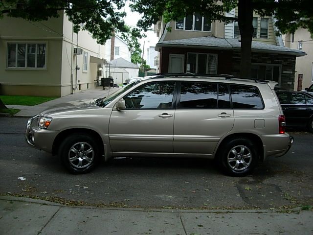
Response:
POLYGON ((139 87, 124 97, 126 109, 171 109, 175 82, 156 82, 139 87))

